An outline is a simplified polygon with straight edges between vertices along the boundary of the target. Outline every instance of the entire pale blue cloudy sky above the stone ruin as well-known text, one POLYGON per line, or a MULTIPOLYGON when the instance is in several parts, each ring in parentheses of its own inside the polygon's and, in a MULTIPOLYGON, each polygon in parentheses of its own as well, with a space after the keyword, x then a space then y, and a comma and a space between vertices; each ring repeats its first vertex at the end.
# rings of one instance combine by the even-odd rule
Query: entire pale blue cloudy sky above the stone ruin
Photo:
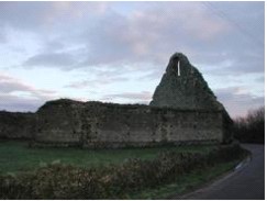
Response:
POLYGON ((264 105, 264 2, 0 2, 0 110, 148 103, 175 52, 231 116, 264 105))

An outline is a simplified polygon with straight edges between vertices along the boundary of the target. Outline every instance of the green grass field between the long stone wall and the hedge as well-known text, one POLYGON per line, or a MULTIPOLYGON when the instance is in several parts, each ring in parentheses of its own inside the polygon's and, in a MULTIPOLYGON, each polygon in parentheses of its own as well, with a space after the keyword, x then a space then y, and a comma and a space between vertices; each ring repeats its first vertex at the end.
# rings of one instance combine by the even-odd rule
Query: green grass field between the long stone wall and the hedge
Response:
POLYGON ((164 150, 209 152, 212 145, 171 146, 156 148, 80 149, 80 148, 30 148, 27 142, 0 142, 0 172, 33 170, 45 164, 62 163, 79 167, 120 164, 127 158, 153 159, 164 150))

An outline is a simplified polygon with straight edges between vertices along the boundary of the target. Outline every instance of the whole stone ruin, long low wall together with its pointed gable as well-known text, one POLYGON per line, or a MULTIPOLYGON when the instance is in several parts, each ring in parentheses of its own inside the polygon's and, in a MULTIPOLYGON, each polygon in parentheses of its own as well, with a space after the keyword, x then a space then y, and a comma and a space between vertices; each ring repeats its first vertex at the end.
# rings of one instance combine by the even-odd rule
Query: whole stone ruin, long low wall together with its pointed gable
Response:
POLYGON ((114 148, 232 139, 231 118, 181 53, 170 57, 149 105, 60 99, 46 102, 29 122, 35 146, 114 148))

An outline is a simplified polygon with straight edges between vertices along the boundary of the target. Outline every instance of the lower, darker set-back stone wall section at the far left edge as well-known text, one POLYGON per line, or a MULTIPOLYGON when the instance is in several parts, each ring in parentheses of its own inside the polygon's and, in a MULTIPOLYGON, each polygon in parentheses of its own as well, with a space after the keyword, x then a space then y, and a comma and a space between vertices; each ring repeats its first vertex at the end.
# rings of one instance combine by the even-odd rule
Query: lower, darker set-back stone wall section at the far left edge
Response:
POLYGON ((31 138, 34 113, 0 111, 0 138, 31 138))

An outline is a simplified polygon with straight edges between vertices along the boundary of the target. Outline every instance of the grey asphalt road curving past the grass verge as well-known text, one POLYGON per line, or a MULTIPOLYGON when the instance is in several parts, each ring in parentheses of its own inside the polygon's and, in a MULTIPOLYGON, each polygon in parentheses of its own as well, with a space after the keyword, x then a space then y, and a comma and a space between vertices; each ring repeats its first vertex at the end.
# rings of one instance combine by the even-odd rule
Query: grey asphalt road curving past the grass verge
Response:
POLYGON ((252 152, 249 161, 235 171, 176 200, 264 200, 265 199, 265 147, 244 144, 252 152))

